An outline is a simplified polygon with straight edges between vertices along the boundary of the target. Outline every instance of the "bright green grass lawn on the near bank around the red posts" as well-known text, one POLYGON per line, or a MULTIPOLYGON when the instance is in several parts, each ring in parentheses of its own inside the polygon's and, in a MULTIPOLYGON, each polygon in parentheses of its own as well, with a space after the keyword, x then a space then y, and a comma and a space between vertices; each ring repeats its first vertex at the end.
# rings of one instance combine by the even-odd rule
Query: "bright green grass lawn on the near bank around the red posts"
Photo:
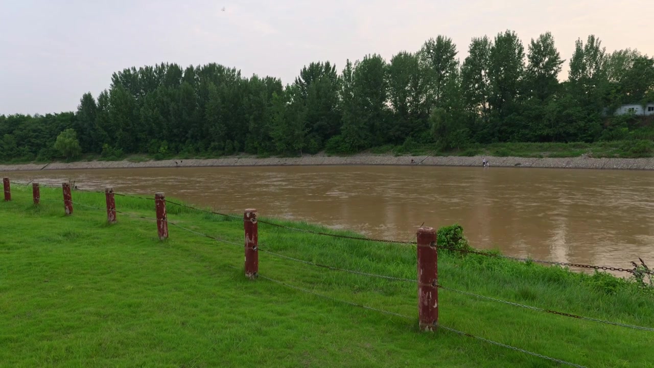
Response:
MULTIPOLYGON (((559 367, 440 329, 417 328, 414 283, 312 267, 153 221, 75 205, 61 189, 14 184, 0 202, 2 367, 559 367), (390 316, 341 303, 363 304, 390 316)), ((104 208, 104 194, 73 192, 104 208)), ((256 204, 253 204, 256 205, 256 204)), ((119 211, 154 217, 154 201, 116 196, 119 211)), ((168 206, 169 221, 237 244, 243 222, 168 206)), ((264 215, 264 214, 260 214, 264 215)), ((286 223, 301 229, 320 228, 286 223)), ((426 224, 430 225, 430 224, 426 224)), ((450 225, 450 224, 433 224, 450 225)), ((320 229, 323 231, 330 231, 320 229)), ((343 232, 340 232, 343 233, 343 232)), ((347 234, 347 233, 346 233, 347 234)), ((345 240, 260 223, 261 249, 398 278, 416 278, 415 247, 345 240)), ((439 283, 613 322, 654 327, 654 293, 608 274, 577 274, 477 255, 439 253, 439 283)), ((654 333, 439 292, 439 323, 587 367, 654 367, 654 333)))

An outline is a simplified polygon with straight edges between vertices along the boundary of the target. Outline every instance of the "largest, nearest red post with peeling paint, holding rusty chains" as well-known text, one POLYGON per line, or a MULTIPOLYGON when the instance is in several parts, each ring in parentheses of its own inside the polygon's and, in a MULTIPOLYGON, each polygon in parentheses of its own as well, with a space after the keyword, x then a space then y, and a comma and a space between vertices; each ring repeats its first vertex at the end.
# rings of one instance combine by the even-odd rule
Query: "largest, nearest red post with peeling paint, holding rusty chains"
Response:
POLYGON ((438 253, 436 231, 418 229, 418 320, 420 329, 434 331, 438 322, 438 253))

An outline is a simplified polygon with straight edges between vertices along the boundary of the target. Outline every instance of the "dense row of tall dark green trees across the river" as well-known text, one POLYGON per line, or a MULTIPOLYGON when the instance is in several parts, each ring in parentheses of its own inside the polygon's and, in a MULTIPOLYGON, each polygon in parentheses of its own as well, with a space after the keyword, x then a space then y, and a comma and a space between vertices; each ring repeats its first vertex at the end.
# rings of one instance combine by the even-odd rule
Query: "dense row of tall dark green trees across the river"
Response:
POLYGON ((313 62, 286 86, 218 64, 131 67, 114 73, 97 99, 84 94, 75 113, 0 116, 0 159, 69 156, 54 149, 69 128, 82 153, 107 159, 634 139, 633 155, 654 151, 644 119, 612 117, 623 103, 654 101, 654 58, 608 53, 590 35, 576 41, 560 82, 566 61, 549 32, 526 46, 513 31, 473 38, 468 56, 457 55, 438 36, 388 62, 377 54, 348 60, 341 73, 313 62))

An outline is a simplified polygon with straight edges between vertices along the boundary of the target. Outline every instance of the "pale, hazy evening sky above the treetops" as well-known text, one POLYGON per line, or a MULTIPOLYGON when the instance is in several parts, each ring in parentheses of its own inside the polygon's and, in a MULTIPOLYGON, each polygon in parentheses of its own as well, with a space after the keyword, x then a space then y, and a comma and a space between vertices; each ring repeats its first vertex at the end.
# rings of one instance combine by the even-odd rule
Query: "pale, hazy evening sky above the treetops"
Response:
MULTIPOLYGON (((652 0, 0 0, 0 115, 77 109, 111 74, 160 62, 216 62, 292 83, 301 67, 369 53, 386 60, 429 37, 551 31, 562 58, 593 33, 607 52, 654 55, 652 0), (222 11, 222 8, 225 11, 222 11)), ((565 67, 567 69, 568 62, 565 67)), ((565 71, 564 71, 565 73, 565 71)))

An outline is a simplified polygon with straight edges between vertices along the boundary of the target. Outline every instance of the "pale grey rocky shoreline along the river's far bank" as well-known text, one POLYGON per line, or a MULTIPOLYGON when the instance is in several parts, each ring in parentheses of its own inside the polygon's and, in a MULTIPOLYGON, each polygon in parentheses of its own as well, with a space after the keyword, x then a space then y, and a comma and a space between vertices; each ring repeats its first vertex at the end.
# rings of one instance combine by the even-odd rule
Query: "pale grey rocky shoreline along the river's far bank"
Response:
POLYGON ((517 168, 576 168, 610 170, 654 170, 654 158, 591 158, 586 156, 568 158, 525 158, 492 156, 392 156, 392 155, 353 155, 324 156, 307 155, 288 158, 256 158, 252 156, 233 156, 225 158, 188 160, 150 160, 144 162, 122 161, 80 161, 52 162, 51 164, 1 165, 0 172, 75 170, 109 168, 175 168, 212 166, 318 166, 318 165, 392 165, 409 166, 481 166, 487 158, 491 167, 517 168), (413 162, 411 161, 413 160, 413 162))

